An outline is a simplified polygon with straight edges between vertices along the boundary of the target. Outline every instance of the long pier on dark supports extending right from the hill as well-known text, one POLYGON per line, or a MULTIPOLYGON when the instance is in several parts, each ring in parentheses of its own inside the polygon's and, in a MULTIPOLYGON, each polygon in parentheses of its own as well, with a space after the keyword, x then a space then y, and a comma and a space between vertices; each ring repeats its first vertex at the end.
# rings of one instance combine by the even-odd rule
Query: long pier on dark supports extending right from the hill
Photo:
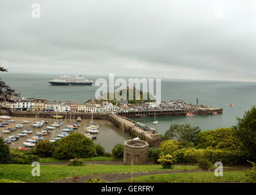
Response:
POLYGON ((213 113, 222 113, 223 108, 196 108, 196 109, 180 109, 180 110, 143 110, 119 112, 118 114, 126 117, 143 118, 153 116, 186 116, 187 113, 194 115, 212 115, 213 113))

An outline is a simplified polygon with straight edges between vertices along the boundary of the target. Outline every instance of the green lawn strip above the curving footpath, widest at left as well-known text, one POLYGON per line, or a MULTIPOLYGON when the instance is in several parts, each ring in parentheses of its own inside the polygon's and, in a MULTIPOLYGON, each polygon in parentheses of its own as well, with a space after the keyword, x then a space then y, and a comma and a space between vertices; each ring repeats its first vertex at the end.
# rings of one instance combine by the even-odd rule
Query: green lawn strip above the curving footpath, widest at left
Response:
MULTIPOLYGON (((130 172, 130 165, 41 165, 40 177, 33 177, 31 165, 0 165, 0 179, 20 180, 22 182, 49 182, 51 180, 65 179, 76 175, 86 176, 91 174, 101 174, 110 172, 130 172), (74 174, 73 174, 73 171, 74 174)), ((173 170, 193 170, 198 169, 193 165, 174 165, 173 170)), ((165 171, 161 165, 133 165, 133 172, 144 171, 165 171)))

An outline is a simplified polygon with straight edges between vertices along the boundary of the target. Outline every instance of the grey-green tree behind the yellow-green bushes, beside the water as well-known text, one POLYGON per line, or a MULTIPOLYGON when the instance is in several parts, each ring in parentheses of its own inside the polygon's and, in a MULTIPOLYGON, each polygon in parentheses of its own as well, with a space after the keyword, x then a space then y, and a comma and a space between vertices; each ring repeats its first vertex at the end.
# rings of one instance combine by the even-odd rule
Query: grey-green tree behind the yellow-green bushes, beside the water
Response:
POLYGON ((190 124, 171 124, 163 136, 164 140, 188 141, 194 143, 194 138, 201 130, 199 127, 191 127, 190 124))

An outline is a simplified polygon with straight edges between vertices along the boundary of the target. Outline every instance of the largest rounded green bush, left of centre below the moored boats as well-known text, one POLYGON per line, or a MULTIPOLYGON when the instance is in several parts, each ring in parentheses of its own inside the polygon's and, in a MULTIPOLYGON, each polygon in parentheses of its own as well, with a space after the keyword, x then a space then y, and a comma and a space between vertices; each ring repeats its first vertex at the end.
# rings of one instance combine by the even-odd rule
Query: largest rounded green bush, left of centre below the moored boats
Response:
POLYGON ((54 142, 52 157, 59 159, 96 157, 96 147, 90 138, 81 133, 71 133, 54 142))

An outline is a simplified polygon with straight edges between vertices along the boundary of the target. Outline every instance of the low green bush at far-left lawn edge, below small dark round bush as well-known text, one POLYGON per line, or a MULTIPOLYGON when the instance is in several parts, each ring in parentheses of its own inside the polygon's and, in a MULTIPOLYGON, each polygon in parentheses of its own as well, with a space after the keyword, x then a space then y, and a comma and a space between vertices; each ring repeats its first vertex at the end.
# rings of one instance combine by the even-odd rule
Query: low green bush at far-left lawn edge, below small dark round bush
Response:
POLYGON ((23 164, 23 165, 31 165, 34 161, 39 161, 39 157, 37 155, 26 154, 23 151, 10 151, 13 157, 13 164, 23 164))

